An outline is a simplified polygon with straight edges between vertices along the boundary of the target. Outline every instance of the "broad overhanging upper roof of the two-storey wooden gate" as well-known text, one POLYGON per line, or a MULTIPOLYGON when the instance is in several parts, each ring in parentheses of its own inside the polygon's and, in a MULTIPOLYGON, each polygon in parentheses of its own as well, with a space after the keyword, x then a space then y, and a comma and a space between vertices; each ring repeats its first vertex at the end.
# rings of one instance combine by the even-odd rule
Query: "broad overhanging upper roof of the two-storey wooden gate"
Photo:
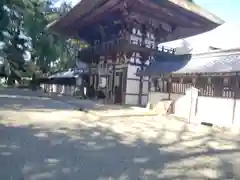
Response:
MULTIPOLYGON (((131 4, 131 2, 134 2, 134 1, 137 2, 137 0, 127 0, 126 2, 131 4)), ((179 0, 166 0, 166 1, 151 0, 153 2, 151 2, 150 0, 148 1, 138 0, 138 1, 139 2, 135 3, 134 5, 137 5, 140 3, 142 4, 156 3, 158 4, 159 7, 163 7, 164 12, 161 11, 161 13, 163 13, 163 16, 166 19, 168 19, 168 17, 175 16, 176 18, 179 18, 179 20, 184 19, 183 22, 186 22, 189 17, 192 17, 193 21, 196 21, 196 22, 194 23, 192 21, 187 21, 187 24, 189 23, 188 26, 190 26, 190 24, 192 25, 198 24, 196 26, 196 29, 198 29, 198 31, 192 31, 191 34, 186 33, 184 37, 203 33, 210 29, 216 28, 217 26, 224 23, 223 20, 211 14, 210 12, 206 11, 205 9, 202 9, 195 3, 179 1, 179 0), (168 12, 168 9, 170 9, 171 12, 168 12)), ((107 9, 113 9, 114 6, 119 5, 119 3, 121 2, 123 1, 121 0, 82 0, 75 7, 73 7, 70 10, 70 12, 68 12, 65 16, 49 24, 47 28, 57 31, 61 34, 78 37, 78 31, 80 30, 79 28, 80 27, 84 28, 84 27, 83 25, 79 25, 79 23, 77 22, 84 20, 84 18, 86 17, 93 16, 93 14, 101 16, 102 12, 105 12, 107 9), (100 7, 104 9, 101 9, 101 11, 97 11, 100 9, 100 7)), ((154 7, 157 7, 155 5, 154 7)), ((170 20, 167 20, 167 21, 169 21, 170 24, 175 22, 175 20, 173 22, 171 22, 170 20)), ((180 21, 179 21, 179 24, 181 24, 180 21)), ((183 27, 185 26, 186 25, 183 25, 183 27)), ((178 38, 183 38, 183 36, 178 38)))

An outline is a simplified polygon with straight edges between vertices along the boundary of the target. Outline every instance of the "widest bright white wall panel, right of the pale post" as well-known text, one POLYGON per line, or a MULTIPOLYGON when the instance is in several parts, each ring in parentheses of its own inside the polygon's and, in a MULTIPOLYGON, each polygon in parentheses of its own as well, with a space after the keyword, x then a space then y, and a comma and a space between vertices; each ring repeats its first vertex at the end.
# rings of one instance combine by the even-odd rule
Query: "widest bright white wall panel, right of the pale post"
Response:
POLYGON ((228 126, 232 124, 233 99, 198 97, 197 119, 228 126))

